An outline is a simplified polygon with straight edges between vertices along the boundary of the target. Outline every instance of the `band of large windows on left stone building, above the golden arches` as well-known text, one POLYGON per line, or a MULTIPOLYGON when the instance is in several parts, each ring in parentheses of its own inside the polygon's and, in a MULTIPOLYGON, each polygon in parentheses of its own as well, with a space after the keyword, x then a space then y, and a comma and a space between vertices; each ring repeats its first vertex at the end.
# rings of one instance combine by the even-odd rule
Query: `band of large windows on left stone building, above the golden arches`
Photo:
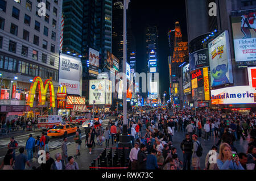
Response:
POLYGON ((42 68, 38 65, 18 60, 17 58, 4 56, 3 54, 0 54, 0 69, 27 74, 34 77, 39 76, 43 79, 52 77, 53 81, 57 81, 58 78, 58 73, 56 70, 42 68))

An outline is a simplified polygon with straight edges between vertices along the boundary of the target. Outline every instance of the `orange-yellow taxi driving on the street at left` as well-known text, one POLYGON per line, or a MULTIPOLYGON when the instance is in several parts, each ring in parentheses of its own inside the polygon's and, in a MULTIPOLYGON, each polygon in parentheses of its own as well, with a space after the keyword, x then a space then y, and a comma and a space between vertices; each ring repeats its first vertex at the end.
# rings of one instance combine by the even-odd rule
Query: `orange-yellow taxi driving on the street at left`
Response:
POLYGON ((47 135, 67 137, 68 134, 75 133, 76 130, 77 128, 71 124, 59 124, 53 127, 52 129, 49 129, 47 135))

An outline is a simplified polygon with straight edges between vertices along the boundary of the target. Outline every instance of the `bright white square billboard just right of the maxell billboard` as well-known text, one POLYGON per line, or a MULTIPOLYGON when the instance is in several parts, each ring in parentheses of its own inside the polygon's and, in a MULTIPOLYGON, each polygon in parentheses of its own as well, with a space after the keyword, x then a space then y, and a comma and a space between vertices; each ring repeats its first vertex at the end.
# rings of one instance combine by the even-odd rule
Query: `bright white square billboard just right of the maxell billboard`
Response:
POLYGON ((112 85, 107 79, 90 80, 89 82, 89 104, 96 105, 112 104, 112 85))

